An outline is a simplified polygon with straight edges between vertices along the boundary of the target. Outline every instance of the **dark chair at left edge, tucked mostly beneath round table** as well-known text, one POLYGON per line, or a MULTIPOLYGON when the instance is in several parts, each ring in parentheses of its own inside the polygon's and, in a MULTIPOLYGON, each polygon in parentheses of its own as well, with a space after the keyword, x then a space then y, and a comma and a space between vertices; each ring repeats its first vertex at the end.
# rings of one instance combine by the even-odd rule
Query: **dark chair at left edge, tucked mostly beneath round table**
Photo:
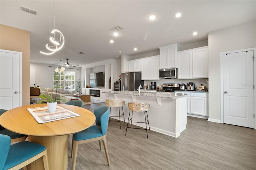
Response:
MULTIPOLYGON (((0 115, 2 115, 6 111, 7 110, 0 109, 0 115)), ((27 135, 12 132, 12 131, 7 130, 6 128, 2 127, 1 125, 0 125, 0 134, 5 134, 7 136, 10 136, 11 142, 21 142, 21 141, 25 141, 27 138, 27 135)))

